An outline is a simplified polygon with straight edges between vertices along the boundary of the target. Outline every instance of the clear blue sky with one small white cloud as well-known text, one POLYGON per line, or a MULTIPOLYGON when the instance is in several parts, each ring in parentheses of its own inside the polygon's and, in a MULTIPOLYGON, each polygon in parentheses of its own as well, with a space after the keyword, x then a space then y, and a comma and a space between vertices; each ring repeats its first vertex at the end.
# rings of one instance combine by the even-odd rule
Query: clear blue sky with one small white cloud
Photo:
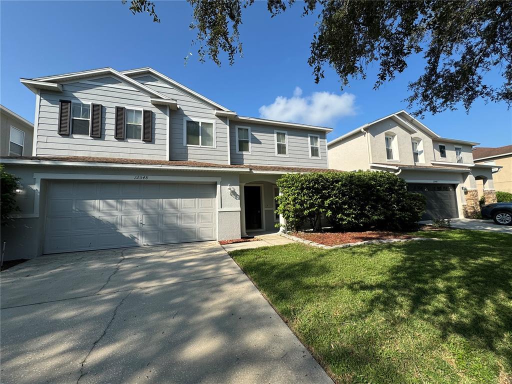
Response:
MULTIPOLYGON (((315 84, 307 64, 316 15, 301 17, 295 4, 270 18, 266 2, 244 10, 240 28, 244 55, 233 66, 200 63, 195 32, 188 29, 191 7, 157 2, 160 24, 132 15, 121 1, 0 2, 0 102, 30 121, 34 95, 19 77, 38 77, 93 68, 126 70, 153 67, 185 86, 245 116, 318 123, 334 128, 329 139, 357 126, 407 109, 407 83, 423 68, 416 58, 397 79, 373 90, 375 69, 367 80, 353 80, 340 91, 336 74, 315 84), (193 55, 184 65, 184 57, 193 55), (325 113, 318 111, 325 110, 325 113)), ((500 81, 499 73, 488 75, 500 81)), ((505 103, 477 101, 469 114, 426 115, 424 124, 443 137, 512 143, 512 110, 505 103)))

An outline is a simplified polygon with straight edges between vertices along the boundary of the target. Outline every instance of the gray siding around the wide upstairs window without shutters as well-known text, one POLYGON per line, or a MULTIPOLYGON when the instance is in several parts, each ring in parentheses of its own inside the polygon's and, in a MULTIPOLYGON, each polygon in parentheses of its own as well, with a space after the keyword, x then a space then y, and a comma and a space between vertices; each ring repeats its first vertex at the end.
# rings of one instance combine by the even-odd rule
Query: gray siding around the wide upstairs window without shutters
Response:
POLYGON ((193 160, 227 164, 227 125, 225 118, 215 116, 216 108, 153 76, 134 77, 155 91, 178 101, 179 109, 170 113, 170 160, 193 160), (183 120, 189 118, 215 121, 215 148, 191 147, 183 144, 183 120))

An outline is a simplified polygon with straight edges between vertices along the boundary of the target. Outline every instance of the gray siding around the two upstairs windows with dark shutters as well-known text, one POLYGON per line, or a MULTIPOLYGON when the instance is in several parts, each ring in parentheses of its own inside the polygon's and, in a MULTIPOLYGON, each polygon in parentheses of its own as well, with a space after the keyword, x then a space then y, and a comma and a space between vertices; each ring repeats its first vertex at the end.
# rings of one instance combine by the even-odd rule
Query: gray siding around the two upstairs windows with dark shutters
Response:
MULTIPOLYGON (((115 80, 115 79, 113 79, 115 80)), ((77 81, 62 86, 62 92, 41 91, 37 130, 37 156, 97 156, 166 160, 167 108, 151 104, 150 97, 136 89, 106 83, 103 79, 77 81), (100 80, 100 81, 98 81, 100 80), (102 84, 92 84, 101 82, 102 84), (59 100, 68 99, 103 106, 101 138, 57 133, 59 100), (115 107, 153 111, 153 140, 114 138, 115 107)))

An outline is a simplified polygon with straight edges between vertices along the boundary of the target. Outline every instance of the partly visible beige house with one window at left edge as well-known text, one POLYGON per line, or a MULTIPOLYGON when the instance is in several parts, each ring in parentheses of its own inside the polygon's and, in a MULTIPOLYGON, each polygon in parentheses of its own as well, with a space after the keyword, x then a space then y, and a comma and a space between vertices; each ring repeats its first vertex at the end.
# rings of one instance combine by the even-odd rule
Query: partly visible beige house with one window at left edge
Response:
POLYGON ((32 155, 34 125, 0 105, 0 156, 32 155))

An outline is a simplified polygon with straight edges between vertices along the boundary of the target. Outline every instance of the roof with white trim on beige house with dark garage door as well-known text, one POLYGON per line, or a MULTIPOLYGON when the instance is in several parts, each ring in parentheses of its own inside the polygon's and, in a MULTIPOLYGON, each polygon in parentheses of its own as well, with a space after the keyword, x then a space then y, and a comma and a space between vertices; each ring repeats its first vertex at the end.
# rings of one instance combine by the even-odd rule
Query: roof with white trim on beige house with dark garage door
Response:
POLYGON ((345 140, 346 138, 349 138, 353 135, 355 135, 358 132, 366 131, 370 126, 373 124, 377 124, 381 122, 382 120, 386 119, 392 119, 393 121, 397 122, 400 126, 402 126, 406 131, 409 131, 410 133, 418 132, 419 130, 423 131, 427 136, 434 140, 438 141, 446 141, 451 143, 462 143, 467 145, 478 145, 479 143, 472 142, 472 141, 464 141, 464 140, 455 140, 455 139, 447 139, 439 136, 437 133, 429 129, 425 124, 423 124, 421 121, 416 119, 414 116, 410 115, 408 112, 401 110, 395 113, 392 113, 388 116, 381 117, 380 119, 371 121, 369 123, 366 123, 364 125, 361 125, 360 127, 357 127, 355 130, 352 130, 345 135, 339 136, 335 138, 334 140, 331 140, 327 143, 327 146, 336 144, 337 142, 340 142, 342 140, 345 140), (417 126, 416 126, 417 125, 417 126))

